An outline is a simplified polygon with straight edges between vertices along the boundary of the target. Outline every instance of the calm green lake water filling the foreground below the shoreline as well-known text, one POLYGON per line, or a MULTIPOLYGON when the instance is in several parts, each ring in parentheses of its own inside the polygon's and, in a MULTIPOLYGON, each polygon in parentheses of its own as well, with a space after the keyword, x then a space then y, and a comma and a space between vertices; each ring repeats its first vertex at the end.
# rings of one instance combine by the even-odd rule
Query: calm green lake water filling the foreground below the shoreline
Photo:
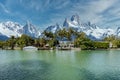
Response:
POLYGON ((120 51, 0 50, 0 80, 120 80, 120 51))

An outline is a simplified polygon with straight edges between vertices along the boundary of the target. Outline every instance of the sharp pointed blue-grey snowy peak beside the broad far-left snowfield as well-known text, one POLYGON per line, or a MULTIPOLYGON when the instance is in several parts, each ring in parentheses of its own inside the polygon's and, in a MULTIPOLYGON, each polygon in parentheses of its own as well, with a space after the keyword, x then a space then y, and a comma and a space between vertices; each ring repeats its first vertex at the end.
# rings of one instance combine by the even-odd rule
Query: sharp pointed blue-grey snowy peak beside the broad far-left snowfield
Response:
POLYGON ((31 37, 39 37, 41 35, 40 31, 36 29, 29 21, 23 27, 23 34, 26 34, 31 37))

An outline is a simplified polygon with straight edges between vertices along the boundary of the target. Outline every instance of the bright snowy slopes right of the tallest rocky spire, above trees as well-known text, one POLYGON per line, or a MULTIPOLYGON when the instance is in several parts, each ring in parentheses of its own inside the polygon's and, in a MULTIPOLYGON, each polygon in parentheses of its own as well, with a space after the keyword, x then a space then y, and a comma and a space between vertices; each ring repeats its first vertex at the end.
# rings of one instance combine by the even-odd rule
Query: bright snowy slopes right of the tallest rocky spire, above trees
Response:
POLYGON ((101 40, 109 35, 115 34, 115 30, 113 29, 102 29, 90 22, 81 24, 80 29, 93 40, 101 40))

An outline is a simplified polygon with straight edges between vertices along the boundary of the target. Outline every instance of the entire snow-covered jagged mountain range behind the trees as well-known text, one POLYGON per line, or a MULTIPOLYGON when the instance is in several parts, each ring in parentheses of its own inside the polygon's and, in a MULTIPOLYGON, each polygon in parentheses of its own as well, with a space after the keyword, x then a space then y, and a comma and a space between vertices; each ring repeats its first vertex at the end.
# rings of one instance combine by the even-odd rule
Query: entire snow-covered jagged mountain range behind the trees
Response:
MULTIPOLYGON (((120 36, 120 27, 117 29, 103 29, 96 24, 92 24, 90 21, 82 23, 78 15, 73 15, 70 19, 65 18, 61 26, 58 24, 51 25, 44 31, 56 33, 58 30, 63 28, 72 28, 77 32, 84 32, 92 40, 102 40, 109 35, 120 36)), ((29 21, 27 21, 24 26, 12 21, 0 23, 0 40, 6 40, 11 36, 19 37, 22 34, 26 34, 33 38, 39 38, 42 35, 42 32, 29 21)))

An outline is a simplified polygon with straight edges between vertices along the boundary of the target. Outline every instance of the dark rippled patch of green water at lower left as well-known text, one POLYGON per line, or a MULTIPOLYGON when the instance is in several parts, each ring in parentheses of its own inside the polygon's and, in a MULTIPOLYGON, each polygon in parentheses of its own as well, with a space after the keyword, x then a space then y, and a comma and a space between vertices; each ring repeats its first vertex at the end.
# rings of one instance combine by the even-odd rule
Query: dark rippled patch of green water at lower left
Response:
POLYGON ((0 80, 48 80, 49 66, 39 60, 5 64, 0 66, 0 80))

